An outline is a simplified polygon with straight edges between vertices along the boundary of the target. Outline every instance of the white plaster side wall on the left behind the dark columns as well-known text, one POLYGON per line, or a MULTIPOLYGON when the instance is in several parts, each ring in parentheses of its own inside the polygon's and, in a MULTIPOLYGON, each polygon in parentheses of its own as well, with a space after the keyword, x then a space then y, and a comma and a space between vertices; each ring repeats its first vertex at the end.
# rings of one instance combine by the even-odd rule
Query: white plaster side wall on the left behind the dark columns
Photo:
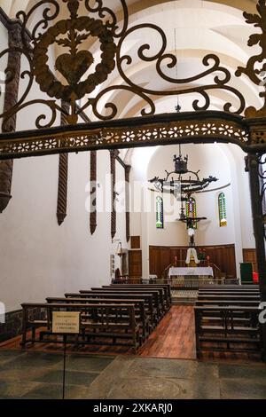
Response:
MULTIPOLYGON (((6 43, 2 26, 0 35, 2 49, 6 43)), ((22 66, 27 68, 26 59, 22 66)), ((20 94, 26 84, 26 80, 20 84, 20 94)), ((28 99, 44 97, 34 83, 28 99)), ((17 129, 34 129, 41 113, 49 115, 50 110, 45 106, 23 110, 18 114, 17 129)), ((49 295, 110 282, 110 255, 117 242, 111 241, 110 181, 106 181, 109 152, 98 152, 98 193, 104 193, 108 207, 98 213, 93 236, 90 213, 85 209, 90 153, 69 154, 67 216, 60 227, 56 216, 58 170, 59 155, 14 161, 12 200, 0 216, 0 300, 6 311, 19 309, 23 302, 43 302, 49 295)), ((116 175, 118 181, 124 179, 118 162, 116 175)), ((115 239, 127 248, 124 213, 117 215, 115 239)), ((115 256, 115 264, 120 267, 119 256, 115 256)))

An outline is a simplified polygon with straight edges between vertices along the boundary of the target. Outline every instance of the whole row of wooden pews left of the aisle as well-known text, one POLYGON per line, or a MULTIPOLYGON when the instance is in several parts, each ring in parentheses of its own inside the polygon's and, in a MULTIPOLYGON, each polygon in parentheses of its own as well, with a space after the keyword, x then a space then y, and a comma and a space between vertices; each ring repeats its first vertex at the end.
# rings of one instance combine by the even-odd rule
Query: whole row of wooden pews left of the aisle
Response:
POLYGON ((76 348, 121 344, 137 350, 171 306, 170 286, 112 285, 48 297, 46 303, 22 303, 22 347, 28 342, 62 342, 52 333, 54 311, 79 311, 80 334, 67 336, 76 348), (35 311, 43 317, 36 318, 35 311), (36 329, 38 334, 36 335, 36 329))

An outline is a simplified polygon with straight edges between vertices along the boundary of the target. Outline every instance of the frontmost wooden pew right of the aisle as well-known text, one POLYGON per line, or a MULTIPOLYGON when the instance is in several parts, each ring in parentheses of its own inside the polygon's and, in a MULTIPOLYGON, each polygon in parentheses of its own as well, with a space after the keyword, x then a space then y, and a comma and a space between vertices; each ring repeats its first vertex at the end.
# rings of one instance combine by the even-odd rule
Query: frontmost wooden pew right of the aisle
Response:
POLYGON ((257 307, 196 306, 195 329, 197 357, 202 350, 258 352, 262 350, 262 329, 257 307), (221 322, 208 320, 209 315, 220 316, 221 322), (249 317, 248 326, 239 325, 239 317, 249 317))

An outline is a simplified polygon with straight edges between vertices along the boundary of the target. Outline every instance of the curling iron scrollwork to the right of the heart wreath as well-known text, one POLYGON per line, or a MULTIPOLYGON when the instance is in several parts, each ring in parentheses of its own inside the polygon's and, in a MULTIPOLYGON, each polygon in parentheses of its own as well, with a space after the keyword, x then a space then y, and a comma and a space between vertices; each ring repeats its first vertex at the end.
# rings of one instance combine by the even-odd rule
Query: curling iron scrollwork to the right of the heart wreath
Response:
POLYGON ((210 106, 210 96, 209 91, 210 90, 227 90, 230 91, 232 94, 234 94, 237 98, 239 98, 239 108, 236 111, 231 112, 231 103, 225 103, 223 106, 223 110, 226 112, 231 112, 234 114, 241 114, 245 109, 245 98, 242 96, 242 94, 239 92, 239 90, 236 90, 235 88, 228 85, 228 83, 231 81, 231 74, 228 69, 225 67, 222 67, 220 65, 220 59, 214 55, 209 54, 207 55, 203 61, 202 64, 205 67, 208 67, 206 71, 203 71, 199 75, 195 75, 190 78, 184 78, 184 79, 176 79, 173 77, 170 77, 166 75, 162 70, 162 62, 168 60, 167 67, 172 68, 176 66, 176 56, 172 54, 165 53, 167 47, 167 39, 166 35, 164 34, 163 30, 155 25, 152 24, 144 24, 144 25, 138 25, 133 28, 129 28, 129 30, 121 37, 121 40, 118 44, 118 51, 117 51, 117 69, 119 71, 119 74, 121 75, 122 80, 124 81, 123 85, 114 85, 107 87, 105 90, 101 90, 98 94, 97 98, 90 99, 90 102, 88 102, 85 106, 82 108, 85 109, 86 106, 89 104, 92 105, 94 114, 97 115, 97 117, 101 120, 110 120, 113 119, 116 114, 118 113, 117 106, 115 106, 113 103, 106 103, 105 109, 110 110, 110 114, 107 116, 103 114, 98 113, 98 102, 101 98, 103 98, 107 93, 110 93, 110 91, 114 90, 128 90, 134 95, 137 95, 139 98, 142 98, 146 105, 149 106, 149 109, 143 108, 141 111, 141 115, 152 115, 155 114, 156 106, 155 102, 152 97, 167 97, 167 96, 180 96, 184 94, 192 94, 197 93, 200 95, 201 98, 204 98, 205 103, 200 106, 200 99, 194 99, 192 102, 192 108, 193 110, 200 111, 200 110, 207 110, 210 106), (147 89, 145 87, 141 87, 140 84, 133 83, 129 77, 126 74, 126 70, 124 67, 127 66, 127 69, 129 68, 129 65, 132 63, 132 58, 129 55, 121 55, 121 49, 123 42, 125 41, 126 37, 133 33, 134 31, 141 30, 144 28, 152 28, 154 31, 160 34, 162 39, 162 47, 160 48, 160 51, 155 54, 153 57, 147 57, 145 56, 145 51, 148 51, 150 49, 150 45, 144 44, 142 45, 138 51, 137 56, 139 59, 143 61, 154 61, 155 62, 155 68, 157 70, 157 75, 160 76, 161 79, 164 81, 167 81, 171 84, 171 87, 168 90, 152 90, 147 89), (211 64, 213 62, 213 64, 211 64), (219 73, 219 75, 217 75, 219 73), (186 88, 177 88, 177 85, 182 84, 191 84, 193 82, 199 81, 200 79, 206 77, 207 75, 214 75, 214 83, 198 86, 198 87, 186 87, 186 88), (175 88, 173 89, 173 85, 175 88))

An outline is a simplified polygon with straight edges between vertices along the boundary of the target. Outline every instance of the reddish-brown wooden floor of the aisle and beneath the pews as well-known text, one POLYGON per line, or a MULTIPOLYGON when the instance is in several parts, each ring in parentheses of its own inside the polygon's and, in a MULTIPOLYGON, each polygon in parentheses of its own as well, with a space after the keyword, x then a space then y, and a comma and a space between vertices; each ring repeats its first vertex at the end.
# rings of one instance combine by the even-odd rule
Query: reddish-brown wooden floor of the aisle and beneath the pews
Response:
MULTIPOLYGON (((21 337, 18 336, 7 342, 0 343, 0 351, 3 350, 20 350, 21 337)), ((67 345, 67 351, 73 352, 73 345, 67 345)), ((27 351, 44 351, 44 352, 62 352, 62 344, 55 343, 35 343, 34 346, 27 346, 27 351)), ((75 353, 82 355, 100 354, 100 355, 130 355, 142 358, 177 358, 177 359, 195 359, 195 327, 194 312, 192 306, 174 305, 168 311, 166 316, 160 321, 160 324, 150 334, 145 345, 142 346, 137 354, 126 346, 97 346, 87 345, 80 348, 75 353)), ((201 359, 203 360, 234 360, 234 361, 261 361, 261 358, 247 353, 230 353, 230 352, 204 352, 201 359)))

